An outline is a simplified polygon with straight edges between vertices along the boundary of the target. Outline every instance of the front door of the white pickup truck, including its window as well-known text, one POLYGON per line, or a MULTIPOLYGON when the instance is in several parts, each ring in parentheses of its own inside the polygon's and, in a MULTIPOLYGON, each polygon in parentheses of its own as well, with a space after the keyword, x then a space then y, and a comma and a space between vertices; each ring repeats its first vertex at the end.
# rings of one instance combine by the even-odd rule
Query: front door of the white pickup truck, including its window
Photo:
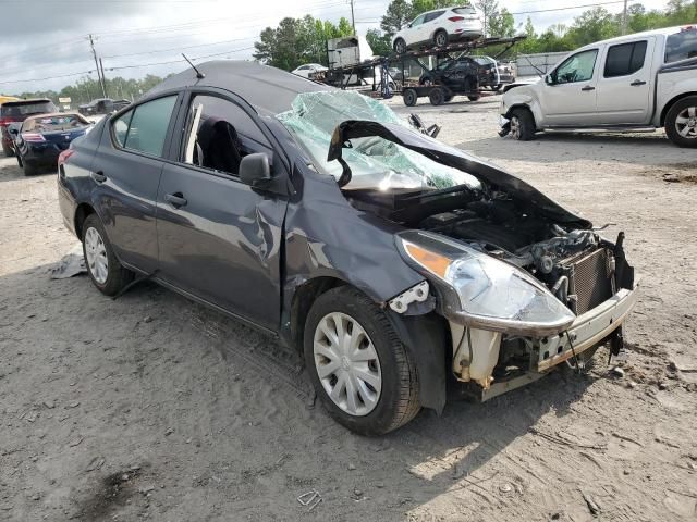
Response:
POLYGON ((540 96, 545 126, 583 127, 596 112, 598 49, 572 54, 546 77, 540 96))

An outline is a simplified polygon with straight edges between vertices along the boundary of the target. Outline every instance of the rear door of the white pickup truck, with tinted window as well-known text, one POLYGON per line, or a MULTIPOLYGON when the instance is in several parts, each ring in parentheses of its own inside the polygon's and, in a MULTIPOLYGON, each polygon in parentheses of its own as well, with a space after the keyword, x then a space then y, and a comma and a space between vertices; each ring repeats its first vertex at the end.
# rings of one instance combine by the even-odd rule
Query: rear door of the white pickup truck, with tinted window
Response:
POLYGON ((651 88, 656 37, 608 46, 597 85, 595 123, 647 124, 651 117, 651 88))

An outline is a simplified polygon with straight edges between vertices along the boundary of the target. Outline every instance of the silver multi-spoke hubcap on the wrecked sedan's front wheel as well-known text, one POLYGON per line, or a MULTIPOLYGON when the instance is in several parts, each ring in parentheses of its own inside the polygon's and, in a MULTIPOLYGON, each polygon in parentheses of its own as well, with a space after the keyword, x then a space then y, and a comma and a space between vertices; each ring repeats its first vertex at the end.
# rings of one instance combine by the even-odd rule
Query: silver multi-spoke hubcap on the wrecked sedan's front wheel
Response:
POLYGON ((356 320, 325 315, 315 330, 315 368, 329 398, 351 415, 370 413, 380 399, 382 373, 375 346, 356 320))

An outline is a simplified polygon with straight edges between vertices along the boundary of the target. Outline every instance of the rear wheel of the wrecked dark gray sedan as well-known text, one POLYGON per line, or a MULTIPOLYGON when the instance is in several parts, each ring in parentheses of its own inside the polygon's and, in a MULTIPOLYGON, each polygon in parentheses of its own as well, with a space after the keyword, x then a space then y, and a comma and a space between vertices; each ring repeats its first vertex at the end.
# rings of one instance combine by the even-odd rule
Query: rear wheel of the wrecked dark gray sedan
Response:
POLYGON ((115 296, 133 281, 133 272, 114 256, 97 214, 89 214, 83 223, 83 254, 89 278, 102 294, 115 296))

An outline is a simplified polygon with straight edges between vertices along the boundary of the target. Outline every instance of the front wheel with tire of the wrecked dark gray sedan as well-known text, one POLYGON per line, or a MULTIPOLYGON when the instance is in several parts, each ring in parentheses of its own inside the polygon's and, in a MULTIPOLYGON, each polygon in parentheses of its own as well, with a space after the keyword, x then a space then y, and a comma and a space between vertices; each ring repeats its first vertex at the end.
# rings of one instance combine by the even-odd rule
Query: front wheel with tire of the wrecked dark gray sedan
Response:
POLYGON ((384 312, 355 288, 317 298, 305 323, 304 356, 325 408, 348 430, 383 435, 420 409, 408 351, 384 312))

